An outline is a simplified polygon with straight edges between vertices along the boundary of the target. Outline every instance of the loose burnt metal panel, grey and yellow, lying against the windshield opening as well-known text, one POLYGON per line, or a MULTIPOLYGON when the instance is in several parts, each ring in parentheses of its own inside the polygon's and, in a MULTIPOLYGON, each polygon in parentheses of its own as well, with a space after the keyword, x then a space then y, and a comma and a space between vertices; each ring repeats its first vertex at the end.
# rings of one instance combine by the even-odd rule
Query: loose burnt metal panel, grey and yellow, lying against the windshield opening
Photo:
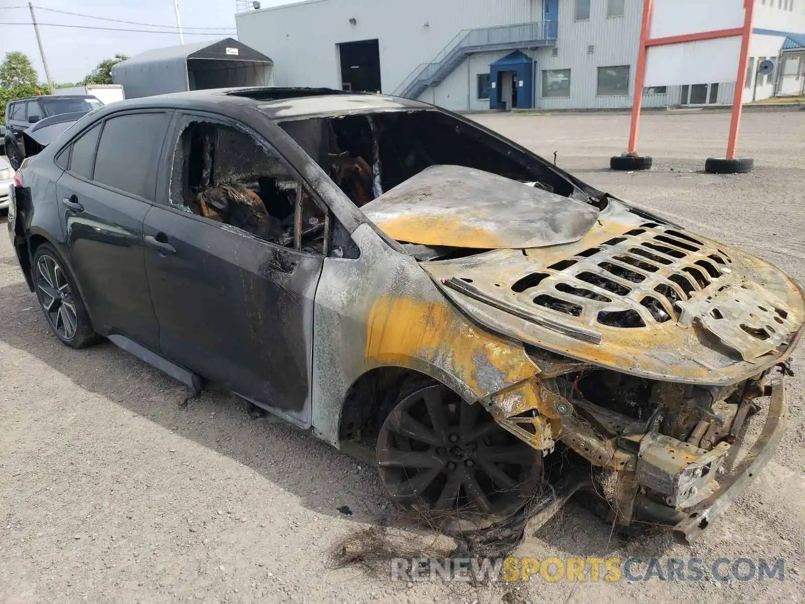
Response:
POLYGON ((361 210, 390 238, 425 246, 522 249, 579 241, 598 210, 463 166, 431 166, 361 210))

